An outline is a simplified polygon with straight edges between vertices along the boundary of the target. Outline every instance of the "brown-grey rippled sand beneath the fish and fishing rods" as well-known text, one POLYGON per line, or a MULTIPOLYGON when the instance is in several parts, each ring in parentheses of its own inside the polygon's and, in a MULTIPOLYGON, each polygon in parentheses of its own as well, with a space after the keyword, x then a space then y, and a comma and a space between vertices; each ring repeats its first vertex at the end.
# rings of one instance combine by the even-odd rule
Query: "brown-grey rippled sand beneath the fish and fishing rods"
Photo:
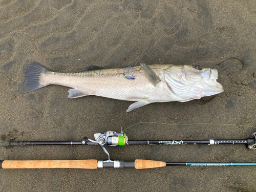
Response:
MULTIPOLYGON (((89 65, 134 65, 181 18, 190 1, 0 2, 1 140, 93 139, 138 122, 256 126, 256 2, 195 0, 180 23, 142 58, 216 68, 224 93, 185 103, 132 102, 88 96, 68 99, 61 86, 18 94, 33 60, 59 72, 89 65)), ((256 129, 226 125, 140 124, 132 140, 245 139, 256 129)), ((112 159, 167 162, 255 162, 245 145, 108 147, 112 159)), ((2 160, 106 159, 98 146, 0 148, 2 160)), ((2 169, 1 191, 255 191, 255 167, 155 169, 2 169)))

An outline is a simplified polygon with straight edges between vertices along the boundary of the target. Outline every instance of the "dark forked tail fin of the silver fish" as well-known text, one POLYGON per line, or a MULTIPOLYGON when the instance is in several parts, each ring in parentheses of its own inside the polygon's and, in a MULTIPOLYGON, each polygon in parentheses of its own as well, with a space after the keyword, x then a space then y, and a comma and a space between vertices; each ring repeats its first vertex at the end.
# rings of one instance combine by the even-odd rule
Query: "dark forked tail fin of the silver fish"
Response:
POLYGON ((40 88, 48 86, 48 84, 41 84, 41 74, 47 71, 51 71, 37 62, 31 62, 29 65, 24 66, 24 72, 26 74, 25 81, 20 84, 18 93, 27 93, 38 90, 40 88))

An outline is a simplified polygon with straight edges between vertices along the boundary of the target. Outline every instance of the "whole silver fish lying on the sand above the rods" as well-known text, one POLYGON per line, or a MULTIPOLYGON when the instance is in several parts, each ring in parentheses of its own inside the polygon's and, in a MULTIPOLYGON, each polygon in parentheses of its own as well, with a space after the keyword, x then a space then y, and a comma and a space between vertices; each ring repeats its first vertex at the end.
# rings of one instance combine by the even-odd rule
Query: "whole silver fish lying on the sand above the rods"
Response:
POLYGON ((53 72, 33 61, 24 66, 25 81, 18 88, 27 93, 50 84, 70 87, 68 98, 96 95, 136 101, 126 112, 153 102, 186 102, 224 91, 217 69, 200 66, 147 65, 116 69, 88 66, 76 73, 53 72))

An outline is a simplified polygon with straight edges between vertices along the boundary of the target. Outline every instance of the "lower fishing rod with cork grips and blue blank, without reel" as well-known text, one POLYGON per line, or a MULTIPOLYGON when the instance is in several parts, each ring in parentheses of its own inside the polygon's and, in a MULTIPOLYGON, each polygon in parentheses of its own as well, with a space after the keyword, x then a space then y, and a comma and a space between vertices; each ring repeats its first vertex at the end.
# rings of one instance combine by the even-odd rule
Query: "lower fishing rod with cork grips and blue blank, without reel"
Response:
POLYGON ((152 161, 136 159, 135 161, 98 161, 90 160, 32 160, 32 161, 0 161, 0 168, 157 168, 165 166, 255 166, 256 163, 168 163, 163 161, 152 161))

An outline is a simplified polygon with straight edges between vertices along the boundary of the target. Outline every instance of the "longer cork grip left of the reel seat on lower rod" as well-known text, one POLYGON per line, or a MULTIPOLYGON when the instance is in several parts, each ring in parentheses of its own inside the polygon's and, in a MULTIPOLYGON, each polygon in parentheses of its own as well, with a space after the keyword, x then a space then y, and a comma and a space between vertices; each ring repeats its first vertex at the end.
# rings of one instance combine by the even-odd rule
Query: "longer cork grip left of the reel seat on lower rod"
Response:
POLYGON ((43 160, 3 161, 2 168, 97 168, 96 159, 91 160, 43 160))

